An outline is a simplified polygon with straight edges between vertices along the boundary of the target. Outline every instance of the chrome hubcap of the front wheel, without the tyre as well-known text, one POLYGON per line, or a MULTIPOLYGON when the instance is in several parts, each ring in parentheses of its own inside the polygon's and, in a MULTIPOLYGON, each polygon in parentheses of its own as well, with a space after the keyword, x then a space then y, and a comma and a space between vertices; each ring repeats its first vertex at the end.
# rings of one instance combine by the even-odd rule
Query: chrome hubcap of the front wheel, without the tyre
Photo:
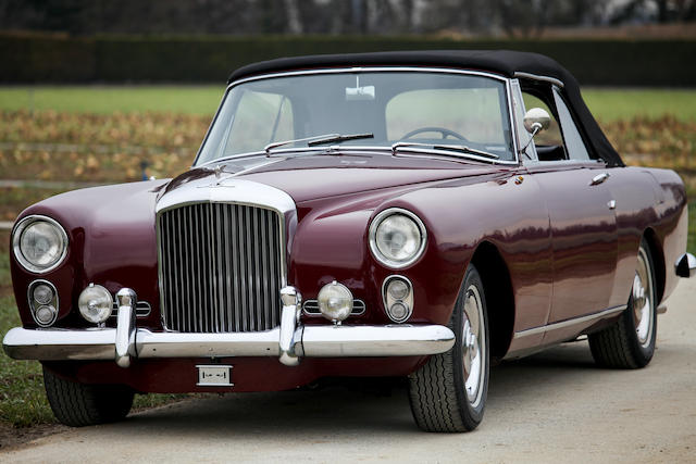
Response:
POLYGON ((483 304, 481 303, 478 289, 473 285, 467 289, 463 318, 461 342, 464 363, 464 389, 467 390, 467 399, 475 407, 481 402, 483 392, 486 353, 485 343, 482 340, 485 337, 483 304))

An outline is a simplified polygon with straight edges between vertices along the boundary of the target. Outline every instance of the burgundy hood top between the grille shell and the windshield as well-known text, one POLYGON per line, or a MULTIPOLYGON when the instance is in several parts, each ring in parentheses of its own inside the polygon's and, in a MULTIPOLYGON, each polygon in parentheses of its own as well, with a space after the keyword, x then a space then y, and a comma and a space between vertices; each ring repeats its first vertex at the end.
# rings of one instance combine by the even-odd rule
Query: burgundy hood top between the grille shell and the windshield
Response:
MULTIPOLYGON (((446 158, 391 156, 350 152, 300 156, 253 156, 194 168, 173 179, 165 193, 196 181, 213 186, 225 179, 252 180, 289 195, 296 203, 420 183, 493 174, 506 167, 446 158)), ((507 167, 509 168, 509 167, 507 167)))

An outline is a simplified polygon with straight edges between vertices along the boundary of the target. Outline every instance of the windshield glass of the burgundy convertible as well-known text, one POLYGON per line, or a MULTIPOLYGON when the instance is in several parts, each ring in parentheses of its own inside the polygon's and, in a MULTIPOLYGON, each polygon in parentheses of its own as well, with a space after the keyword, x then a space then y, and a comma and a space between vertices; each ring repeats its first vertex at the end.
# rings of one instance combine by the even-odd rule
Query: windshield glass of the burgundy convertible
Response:
POLYGON ((465 146, 512 161, 506 95, 500 79, 427 71, 250 80, 225 96, 196 164, 260 152, 272 143, 276 150, 308 148, 312 138, 327 136, 340 146, 465 146))

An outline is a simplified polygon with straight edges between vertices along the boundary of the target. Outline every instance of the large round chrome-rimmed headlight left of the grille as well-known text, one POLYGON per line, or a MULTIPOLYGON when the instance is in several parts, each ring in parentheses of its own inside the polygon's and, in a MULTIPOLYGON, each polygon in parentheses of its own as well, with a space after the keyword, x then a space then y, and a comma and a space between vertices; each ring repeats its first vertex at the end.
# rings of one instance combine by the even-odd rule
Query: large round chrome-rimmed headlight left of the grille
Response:
POLYGON ((67 254, 67 234, 58 222, 46 216, 27 216, 12 233, 14 256, 27 271, 47 273, 67 254))

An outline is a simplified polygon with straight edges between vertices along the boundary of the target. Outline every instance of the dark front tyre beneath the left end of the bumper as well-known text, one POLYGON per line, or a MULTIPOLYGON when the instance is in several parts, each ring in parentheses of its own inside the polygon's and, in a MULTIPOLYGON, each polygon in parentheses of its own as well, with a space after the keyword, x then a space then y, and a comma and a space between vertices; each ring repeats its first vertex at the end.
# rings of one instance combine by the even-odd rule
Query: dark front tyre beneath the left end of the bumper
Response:
POLYGON ((65 380, 44 367, 44 385, 55 417, 71 427, 121 421, 130 411, 134 391, 122 385, 86 385, 65 380))

